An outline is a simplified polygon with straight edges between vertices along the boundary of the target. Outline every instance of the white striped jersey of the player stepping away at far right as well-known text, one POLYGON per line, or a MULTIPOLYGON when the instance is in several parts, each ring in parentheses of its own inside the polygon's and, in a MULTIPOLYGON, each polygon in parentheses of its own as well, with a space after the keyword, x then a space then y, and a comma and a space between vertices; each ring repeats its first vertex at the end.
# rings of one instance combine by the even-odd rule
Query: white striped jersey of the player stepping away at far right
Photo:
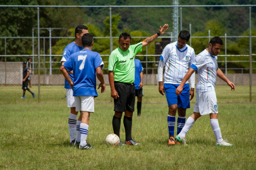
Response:
POLYGON ((217 76, 217 56, 210 55, 207 50, 202 51, 195 57, 192 69, 198 73, 198 83, 196 91, 215 91, 217 76))

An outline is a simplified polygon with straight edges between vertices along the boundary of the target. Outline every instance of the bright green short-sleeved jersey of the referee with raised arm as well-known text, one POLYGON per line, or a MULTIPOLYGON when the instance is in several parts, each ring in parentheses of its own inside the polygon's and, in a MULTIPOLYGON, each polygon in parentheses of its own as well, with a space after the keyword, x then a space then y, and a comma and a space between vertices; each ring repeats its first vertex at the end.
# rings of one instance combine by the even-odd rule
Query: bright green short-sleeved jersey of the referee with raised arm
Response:
POLYGON ((109 56, 109 71, 114 72, 114 81, 132 83, 135 81, 135 55, 142 52, 142 43, 130 45, 125 52, 119 47, 109 56))

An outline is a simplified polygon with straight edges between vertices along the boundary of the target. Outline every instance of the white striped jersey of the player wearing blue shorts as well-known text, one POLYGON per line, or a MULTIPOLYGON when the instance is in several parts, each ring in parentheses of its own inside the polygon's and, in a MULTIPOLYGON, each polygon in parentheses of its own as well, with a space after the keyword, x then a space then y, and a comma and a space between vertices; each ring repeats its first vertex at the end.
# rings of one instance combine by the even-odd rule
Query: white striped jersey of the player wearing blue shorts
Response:
MULTIPOLYGON (((195 51, 189 45, 178 48, 177 42, 173 42, 166 45, 160 60, 165 63, 164 83, 181 84, 183 77, 195 60, 195 51)), ((190 88, 195 88, 195 73, 190 77, 190 88)))

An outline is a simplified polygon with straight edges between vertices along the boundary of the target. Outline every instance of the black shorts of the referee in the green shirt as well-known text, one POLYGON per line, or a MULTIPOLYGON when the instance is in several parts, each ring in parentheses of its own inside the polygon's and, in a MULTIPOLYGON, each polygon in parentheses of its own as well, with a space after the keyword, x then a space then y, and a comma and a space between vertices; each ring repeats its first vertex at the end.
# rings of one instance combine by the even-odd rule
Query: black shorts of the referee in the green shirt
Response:
POLYGON ((114 99, 114 111, 134 111, 135 85, 134 83, 114 82, 114 88, 118 92, 118 99, 114 99))

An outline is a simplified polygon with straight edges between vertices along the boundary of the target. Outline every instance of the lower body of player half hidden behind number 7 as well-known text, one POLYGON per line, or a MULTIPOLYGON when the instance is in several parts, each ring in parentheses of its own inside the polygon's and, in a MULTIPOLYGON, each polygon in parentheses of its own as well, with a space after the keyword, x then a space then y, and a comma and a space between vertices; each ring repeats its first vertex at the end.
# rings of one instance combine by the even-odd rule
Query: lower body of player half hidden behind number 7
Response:
POLYGON ((73 96, 73 90, 66 89, 66 96, 67 96, 66 100, 67 100, 68 108, 70 108, 70 116, 68 117, 68 131, 70 132, 70 145, 75 146, 76 118, 77 118, 78 111, 76 111, 76 108, 75 108, 75 97, 73 96))

